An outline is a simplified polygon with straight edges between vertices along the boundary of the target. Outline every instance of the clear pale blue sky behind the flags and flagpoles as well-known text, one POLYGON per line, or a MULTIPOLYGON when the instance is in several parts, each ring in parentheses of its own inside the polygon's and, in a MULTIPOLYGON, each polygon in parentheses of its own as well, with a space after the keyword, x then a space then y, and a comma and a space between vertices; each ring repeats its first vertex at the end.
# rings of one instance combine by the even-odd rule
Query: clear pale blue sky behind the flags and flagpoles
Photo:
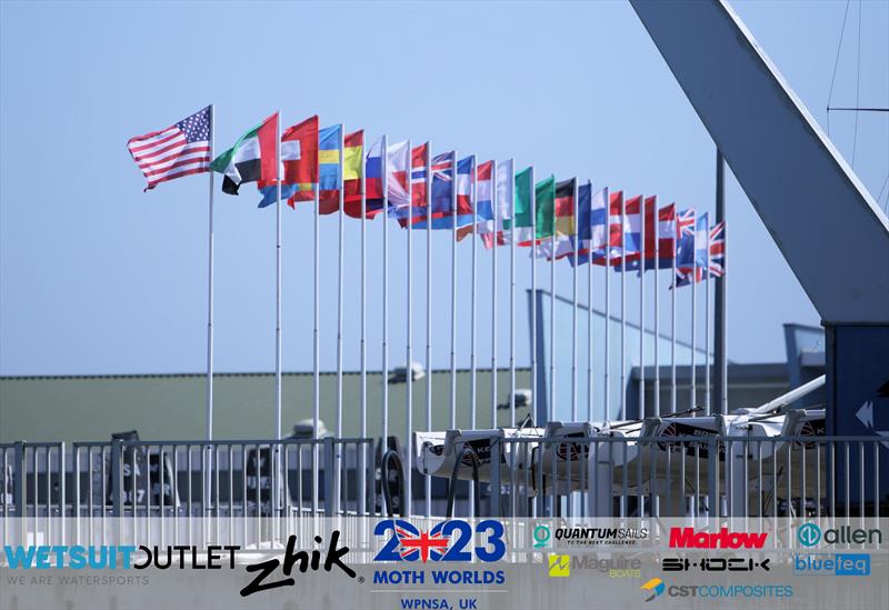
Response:
MULTIPOLYGON (((861 10, 860 103, 887 106, 889 3, 861 4, 849 8, 833 103, 856 100, 861 10)), ((846 2, 736 2, 735 8, 823 126, 846 2)), ((535 164, 538 176, 579 176, 597 186, 658 194, 662 203, 712 209, 712 141, 623 2, 4 1, 0 18, 0 374, 203 369, 207 177, 143 193, 126 142, 210 102, 218 151, 277 109, 286 124, 319 113, 322 124, 364 128, 369 139, 388 133, 431 140, 436 151, 515 157, 520 167, 535 164)), ((858 120, 855 169, 876 198, 889 171, 889 118, 858 120)), ((853 122, 850 113, 831 117, 831 137, 850 160, 853 122)), ((881 206, 888 198, 883 192, 881 206)), ((217 196, 220 371, 274 366, 274 212, 256 209, 258 199, 252 187, 238 198, 217 196)), ((818 316, 733 178, 727 201, 729 357, 781 361, 780 324, 818 324, 818 316)), ((311 210, 284 210, 283 221, 283 362, 286 370, 308 370, 311 210)), ((347 369, 358 367, 358 227, 347 219, 347 369)), ((368 232, 373 368, 382 316, 380 221, 368 232)), ((406 242, 393 226, 390 237, 390 360, 401 363, 406 242)), ((418 360, 426 332, 424 239, 414 240, 418 360)), ((331 369, 336 217, 322 219, 321 240, 321 360, 331 369)), ((488 252, 479 252, 479 358, 488 362, 491 263, 488 252)), ((502 252, 501 304, 508 298, 502 252)), ((469 357, 470 257, 465 241, 461 364, 469 357)), ((448 366, 449 261, 447 236, 434 236, 436 367, 448 366)), ((517 267, 518 287, 527 288, 525 252, 517 267)), ((567 263, 559 266, 557 290, 569 297, 570 273, 567 263)), ((540 278, 549 284, 542 267, 540 278)), ((595 281, 596 304, 603 307, 601 271, 595 281)), ((662 276, 662 320, 669 314, 667 281, 662 276)), ((638 280, 628 284, 635 318, 638 280)), ((688 299, 688 291, 680 293, 679 330, 686 338, 688 299)), ((525 299, 518 302, 525 320, 525 299)), ((500 314, 503 363, 506 323, 500 314)), ((527 327, 517 336, 526 361, 527 327)))

